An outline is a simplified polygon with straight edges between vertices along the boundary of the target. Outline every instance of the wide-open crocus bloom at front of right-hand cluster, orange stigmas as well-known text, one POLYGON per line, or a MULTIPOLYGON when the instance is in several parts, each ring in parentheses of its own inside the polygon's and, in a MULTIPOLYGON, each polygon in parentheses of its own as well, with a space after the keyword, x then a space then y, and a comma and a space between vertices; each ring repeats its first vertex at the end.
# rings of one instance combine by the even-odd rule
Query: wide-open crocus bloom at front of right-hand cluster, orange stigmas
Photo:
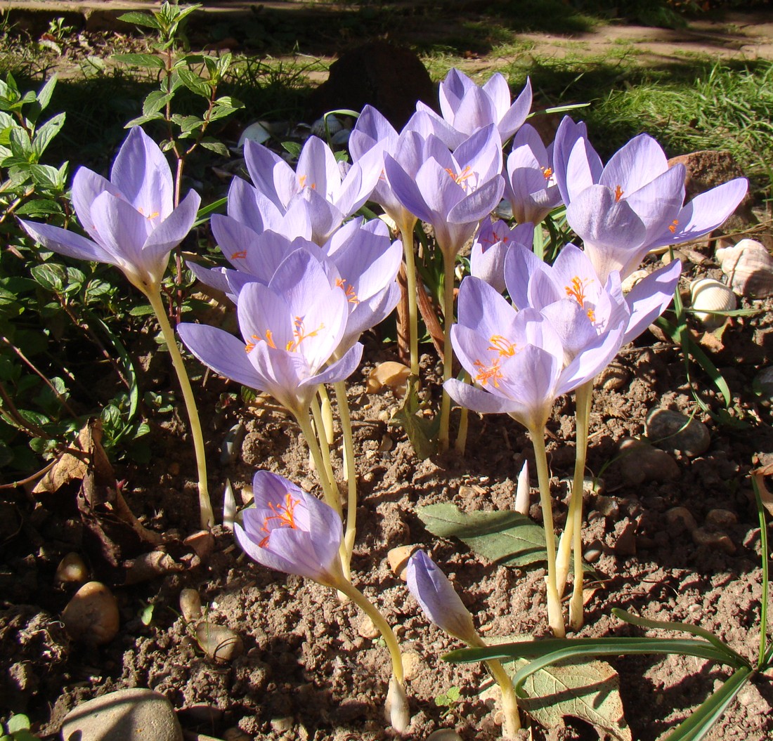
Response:
MULTIPOLYGON (((577 324, 577 309, 562 302, 564 322, 577 324)), ((516 311, 483 280, 461 281, 458 324, 451 342, 462 367, 480 388, 449 379, 452 399, 480 413, 507 413, 531 431, 542 430, 553 401, 592 379, 615 356, 625 328, 594 338, 570 362, 562 335, 540 311, 516 311)))

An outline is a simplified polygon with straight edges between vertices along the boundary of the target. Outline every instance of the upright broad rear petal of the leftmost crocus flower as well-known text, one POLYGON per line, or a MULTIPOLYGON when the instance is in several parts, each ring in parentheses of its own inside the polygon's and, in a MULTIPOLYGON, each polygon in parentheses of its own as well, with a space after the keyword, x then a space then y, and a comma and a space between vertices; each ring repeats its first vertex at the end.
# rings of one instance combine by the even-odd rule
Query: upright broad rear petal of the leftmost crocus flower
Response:
POLYGON ((174 184, 164 153, 141 127, 121 145, 110 173, 113 185, 143 216, 165 219, 172 212, 174 184))

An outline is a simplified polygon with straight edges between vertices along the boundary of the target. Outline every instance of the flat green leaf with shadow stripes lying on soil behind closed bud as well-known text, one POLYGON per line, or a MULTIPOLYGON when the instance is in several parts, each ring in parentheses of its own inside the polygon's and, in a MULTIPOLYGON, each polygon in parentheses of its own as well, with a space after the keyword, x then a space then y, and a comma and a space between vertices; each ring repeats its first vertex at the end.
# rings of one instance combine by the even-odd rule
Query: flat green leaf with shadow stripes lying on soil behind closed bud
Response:
POLYGON ((528 566, 547 560, 545 531, 519 512, 461 512, 441 503, 419 507, 417 515, 433 535, 458 538, 490 561, 528 566))

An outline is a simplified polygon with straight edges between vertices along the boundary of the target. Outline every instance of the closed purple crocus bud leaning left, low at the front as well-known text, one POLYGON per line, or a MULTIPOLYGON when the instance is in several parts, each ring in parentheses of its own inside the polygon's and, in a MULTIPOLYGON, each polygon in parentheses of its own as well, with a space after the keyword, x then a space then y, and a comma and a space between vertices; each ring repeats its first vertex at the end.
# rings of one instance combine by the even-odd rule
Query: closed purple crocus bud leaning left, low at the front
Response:
POLYGON ((480 642, 469 610, 448 577, 424 551, 410 556, 405 576, 410 593, 435 625, 465 643, 480 642))

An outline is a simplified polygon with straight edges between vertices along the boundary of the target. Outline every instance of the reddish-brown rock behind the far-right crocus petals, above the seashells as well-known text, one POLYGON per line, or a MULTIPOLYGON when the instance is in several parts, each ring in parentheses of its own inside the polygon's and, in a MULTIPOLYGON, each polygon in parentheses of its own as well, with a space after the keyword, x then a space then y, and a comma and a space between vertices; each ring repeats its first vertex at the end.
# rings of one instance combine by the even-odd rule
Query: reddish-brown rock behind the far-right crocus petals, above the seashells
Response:
MULTIPOLYGON (((669 159, 669 167, 677 164, 684 165, 687 169, 684 183, 686 201, 724 182, 745 177, 741 166, 729 151, 704 149, 669 159)), ((754 198, 751 193, 747 193, 719 231, 726 234, 743 232, 749 226, 757 224, 758 219, 751 211, 753 205, 754 198)))

